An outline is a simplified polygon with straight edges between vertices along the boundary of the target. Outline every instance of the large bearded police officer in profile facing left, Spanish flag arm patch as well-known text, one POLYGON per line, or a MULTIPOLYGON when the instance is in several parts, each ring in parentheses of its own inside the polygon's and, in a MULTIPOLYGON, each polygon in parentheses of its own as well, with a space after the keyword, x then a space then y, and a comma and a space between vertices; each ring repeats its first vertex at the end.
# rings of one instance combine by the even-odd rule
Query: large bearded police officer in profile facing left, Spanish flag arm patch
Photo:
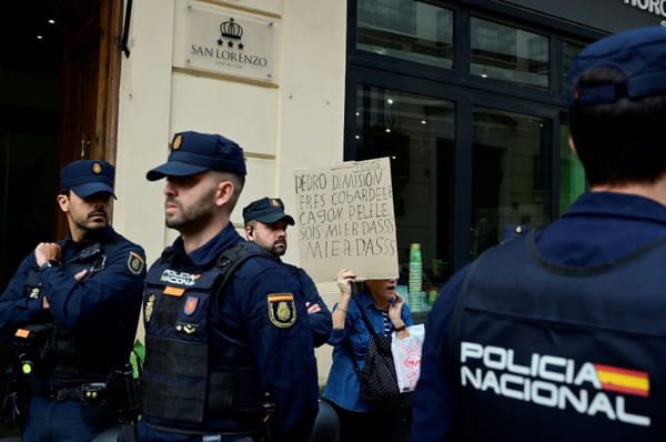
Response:
POLYGON ((181 235, 147 277, 142 441, 299 442, 311 431, 319 388, 301 288, 230 222, 245 173, 235 142, 182 132, 147 174, 167 178, 167 225, 181 235), (243 250, 251 258, 230 273, 243 250))

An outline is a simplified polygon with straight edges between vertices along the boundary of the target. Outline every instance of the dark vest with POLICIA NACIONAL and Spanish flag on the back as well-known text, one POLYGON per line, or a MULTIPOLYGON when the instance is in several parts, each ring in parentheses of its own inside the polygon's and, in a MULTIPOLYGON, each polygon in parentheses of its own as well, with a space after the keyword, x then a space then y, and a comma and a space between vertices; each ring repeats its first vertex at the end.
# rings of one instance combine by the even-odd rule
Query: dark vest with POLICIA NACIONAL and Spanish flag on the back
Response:
POLYGON ((666 240, 563 267, 536 233, 473 263, 450 334, 464 440, 663 440, 666 240))

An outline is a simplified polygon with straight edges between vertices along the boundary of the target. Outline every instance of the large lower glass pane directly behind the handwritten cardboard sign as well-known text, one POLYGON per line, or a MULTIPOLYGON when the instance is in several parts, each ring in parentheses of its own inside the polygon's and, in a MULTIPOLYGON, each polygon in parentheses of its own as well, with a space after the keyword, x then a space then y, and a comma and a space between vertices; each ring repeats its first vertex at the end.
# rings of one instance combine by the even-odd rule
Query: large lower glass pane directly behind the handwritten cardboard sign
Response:
POLYGON ((453 272, 454 106, 360 84, 356 128, 356 160, 391 158, 401 284, 420 243, 424 291, 437 290, 453 272))

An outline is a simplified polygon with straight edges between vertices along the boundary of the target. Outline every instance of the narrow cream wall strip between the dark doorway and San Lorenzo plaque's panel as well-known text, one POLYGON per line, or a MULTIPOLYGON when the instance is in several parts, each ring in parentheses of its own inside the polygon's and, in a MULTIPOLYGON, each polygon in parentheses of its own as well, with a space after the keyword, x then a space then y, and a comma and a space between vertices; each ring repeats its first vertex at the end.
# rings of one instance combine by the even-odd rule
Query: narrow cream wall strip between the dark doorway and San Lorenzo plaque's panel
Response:
POLYGON ((161 183, 147 181, 145 172, 165 160, 171 139, 173 8, 165 3, 133 3, 131 54, 120 79, 114 227, 144 247, 149 262, 164 247, 161 183))

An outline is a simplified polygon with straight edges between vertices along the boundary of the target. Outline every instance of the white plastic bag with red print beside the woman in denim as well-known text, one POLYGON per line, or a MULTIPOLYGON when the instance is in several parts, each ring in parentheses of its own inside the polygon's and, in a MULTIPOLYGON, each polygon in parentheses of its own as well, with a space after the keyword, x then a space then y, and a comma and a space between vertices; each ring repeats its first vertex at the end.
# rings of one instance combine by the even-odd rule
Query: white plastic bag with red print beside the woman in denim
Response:
POLYGON ((421 348, 425 335, 423 324, 410 325, 410 335, 398 339, 393 332, 391 340, 391 352, 397 376, 397 388, 401 392, 414 391, 418 375, 421 374, 421 348))

